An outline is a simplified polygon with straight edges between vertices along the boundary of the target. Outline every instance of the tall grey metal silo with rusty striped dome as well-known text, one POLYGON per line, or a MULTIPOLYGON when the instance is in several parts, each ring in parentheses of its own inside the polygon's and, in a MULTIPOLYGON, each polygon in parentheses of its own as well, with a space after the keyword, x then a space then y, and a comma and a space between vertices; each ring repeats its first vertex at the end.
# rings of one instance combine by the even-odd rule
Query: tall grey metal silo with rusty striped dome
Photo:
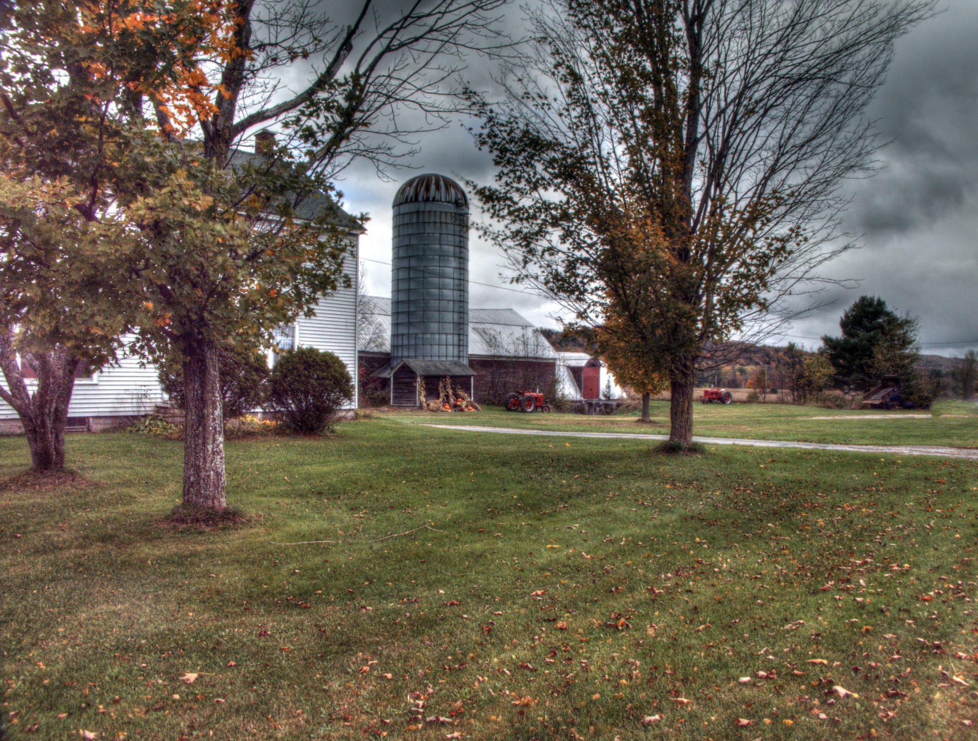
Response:
POLYGON ((390 360, 468 362, 468 198, 444 175, 394 196, 390 360))

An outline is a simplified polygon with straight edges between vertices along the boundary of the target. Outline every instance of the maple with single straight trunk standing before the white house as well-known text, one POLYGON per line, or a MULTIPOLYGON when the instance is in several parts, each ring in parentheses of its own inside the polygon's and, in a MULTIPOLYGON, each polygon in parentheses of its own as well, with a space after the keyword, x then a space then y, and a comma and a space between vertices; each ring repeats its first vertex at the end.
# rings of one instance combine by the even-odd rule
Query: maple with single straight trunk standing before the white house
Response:
POLYGON ((332 178, 353 159, 396 159, 395 145, 417 130, 400 122, 401 109, 443 122, 458 109, 445 83, 459 67, 443 60, 496 53, 491 14, 502 4, 432 0, 384 22, 366 0, 341 25, 303 3, 232 0, 214 23, 225 43, 201 46, 186 65, 181 89, 195 96, 180 106, 154 101, 168 143, 181 144, 187 125, 200 132, 199 150, 182 150, 189 166, 170 168, 163 187, 130 209, 146 237, 145 262, 133 263, 145 294, 140 347, 183 361, 185 504, 226 505, 217 345, 243 334, 270 343, 275 327, 347 281, 343 262, 362 220, 326 208, 300 223, 296 209, 308 197, 337 201, 332 178), (297 95, 274 102, 275 70, 297 60, 323 67, 297 95), (260 156, 235 159, 234 144, 269 123, 283 142, 266 139, 260 156))

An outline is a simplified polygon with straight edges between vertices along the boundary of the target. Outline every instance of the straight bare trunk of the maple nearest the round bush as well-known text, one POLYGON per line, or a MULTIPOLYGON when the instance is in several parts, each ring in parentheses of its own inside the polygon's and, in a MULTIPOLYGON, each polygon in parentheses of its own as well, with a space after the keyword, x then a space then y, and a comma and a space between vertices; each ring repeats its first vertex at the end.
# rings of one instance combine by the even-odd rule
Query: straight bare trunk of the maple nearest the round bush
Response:
POLYGON ((201 342, 184 359, 184 504, 220 511, 224 494, 224 416, 217 348, 201 342))

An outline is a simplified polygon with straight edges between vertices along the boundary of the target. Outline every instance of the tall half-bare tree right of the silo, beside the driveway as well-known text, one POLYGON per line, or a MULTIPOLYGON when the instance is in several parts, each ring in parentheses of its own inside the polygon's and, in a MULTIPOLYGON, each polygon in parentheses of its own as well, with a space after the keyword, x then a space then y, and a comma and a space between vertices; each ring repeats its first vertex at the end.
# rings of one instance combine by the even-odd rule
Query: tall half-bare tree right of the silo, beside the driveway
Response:
POLYGON ((580 325, 620 318, 669 377, 689 444, 704 348, 846 247, 868 102, 928 0, 553 0, 483 104, 476 189, 518 280, 580 325))

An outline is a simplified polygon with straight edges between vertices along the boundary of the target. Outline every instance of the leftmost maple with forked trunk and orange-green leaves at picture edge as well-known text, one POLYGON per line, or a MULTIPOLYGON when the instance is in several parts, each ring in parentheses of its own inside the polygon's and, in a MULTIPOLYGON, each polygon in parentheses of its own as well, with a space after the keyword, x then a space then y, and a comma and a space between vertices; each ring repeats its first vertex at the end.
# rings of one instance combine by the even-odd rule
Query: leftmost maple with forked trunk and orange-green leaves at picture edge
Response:
POLYGON ((75 375, 111 362, 129 326, 117 191, 144 165, 140 98, 180 99, 181 57, 206 35, 202 5, 175 3, 165 22, 127 2, 22 3, 0 16, 0 398, 37 470, 64 466, 75 375))

